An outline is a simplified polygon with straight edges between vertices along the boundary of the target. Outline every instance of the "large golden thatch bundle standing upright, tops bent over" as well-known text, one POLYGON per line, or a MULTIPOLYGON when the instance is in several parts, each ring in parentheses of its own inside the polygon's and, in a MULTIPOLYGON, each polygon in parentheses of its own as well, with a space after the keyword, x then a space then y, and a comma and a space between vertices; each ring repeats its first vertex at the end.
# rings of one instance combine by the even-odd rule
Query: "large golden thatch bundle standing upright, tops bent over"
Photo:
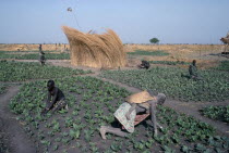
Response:
POLYGON ((123 44, 116 33, 108 29, 106 34, 84 34, 74 28, 62 26, 71 48, 71 64, 114 68, 126 64, 123 44))

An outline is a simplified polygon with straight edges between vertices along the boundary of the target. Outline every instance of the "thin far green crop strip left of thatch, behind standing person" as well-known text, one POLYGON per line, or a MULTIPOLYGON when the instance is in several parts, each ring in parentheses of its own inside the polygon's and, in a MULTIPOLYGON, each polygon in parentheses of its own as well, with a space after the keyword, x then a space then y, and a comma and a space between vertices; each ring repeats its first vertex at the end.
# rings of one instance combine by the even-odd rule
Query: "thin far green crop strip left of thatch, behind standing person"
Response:
MULTIPOLYGON (((48 51, 45 51, 45 58, 46 60, 70 60, 69 53, 51 53, 48 51)), ((39 59, 39 52, 37 53, 24 53, 24 52, 0 52, 0 59, 14 59, 14 60, 38 60, 39 59)))

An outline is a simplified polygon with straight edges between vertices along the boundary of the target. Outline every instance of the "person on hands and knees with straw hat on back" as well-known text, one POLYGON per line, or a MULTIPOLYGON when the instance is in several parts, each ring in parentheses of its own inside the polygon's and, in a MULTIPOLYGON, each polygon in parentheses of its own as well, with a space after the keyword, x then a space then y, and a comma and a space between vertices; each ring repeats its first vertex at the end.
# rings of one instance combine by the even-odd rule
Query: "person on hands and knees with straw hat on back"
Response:
POLYGON ((123 126, 122 128, 114 128, 109 126, 100 127, 100 135, 106 139, 106 133, 113 133, 119 137, 126 137, 128 132, 134 131, 134 126, 150 116, 154 127, 154 135, 157 136, 157 127, 162 128, 156 120, 156 107, 162 105, 166 101, 164 93, 158 93, 153 97, 147 91, 142 91, 126 98, 123 104, 113 114, 116 119, 123 126), (125 131, 124 131, 125 130, 125 131))

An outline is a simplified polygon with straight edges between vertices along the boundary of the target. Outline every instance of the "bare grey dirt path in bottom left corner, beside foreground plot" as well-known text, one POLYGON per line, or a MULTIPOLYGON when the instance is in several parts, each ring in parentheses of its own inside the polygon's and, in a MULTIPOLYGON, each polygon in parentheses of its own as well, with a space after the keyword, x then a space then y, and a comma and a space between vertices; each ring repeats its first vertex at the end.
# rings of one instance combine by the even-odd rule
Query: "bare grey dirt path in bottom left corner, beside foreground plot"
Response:
POLYGON ((9 109, 10 100, 19 92, 19 86, 11 86, 8 91, 0 94, 0 136, 9 152, 36 153, 35 144, 26 137, 16 115, 9 109))

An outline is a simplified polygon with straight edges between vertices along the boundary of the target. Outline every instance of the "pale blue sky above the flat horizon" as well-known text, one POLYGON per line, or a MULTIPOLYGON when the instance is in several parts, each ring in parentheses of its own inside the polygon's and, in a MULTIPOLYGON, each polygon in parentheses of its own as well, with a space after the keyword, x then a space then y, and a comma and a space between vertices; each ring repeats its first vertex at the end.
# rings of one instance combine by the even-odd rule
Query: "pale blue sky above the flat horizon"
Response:
POLYGON ((228 14, 229 0, 0 0, 0 43, 65 43, 62 25, 123 43, 221 43, 228 14))

